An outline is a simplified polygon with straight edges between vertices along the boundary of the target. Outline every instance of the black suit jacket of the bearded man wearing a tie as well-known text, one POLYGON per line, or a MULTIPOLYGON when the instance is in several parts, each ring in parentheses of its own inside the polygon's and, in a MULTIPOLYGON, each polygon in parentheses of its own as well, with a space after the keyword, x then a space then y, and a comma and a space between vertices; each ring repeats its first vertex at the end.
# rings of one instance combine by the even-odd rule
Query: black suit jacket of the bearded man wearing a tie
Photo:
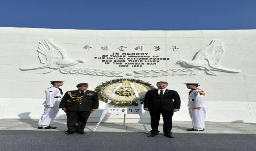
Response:
POLYGON ((180 109, 180 95, 176 91, 166 89, 163 96, 160 97, 157 89, 149 90, 145 95, 144 108, 157 110, 160 106, 165 110, 180 109))

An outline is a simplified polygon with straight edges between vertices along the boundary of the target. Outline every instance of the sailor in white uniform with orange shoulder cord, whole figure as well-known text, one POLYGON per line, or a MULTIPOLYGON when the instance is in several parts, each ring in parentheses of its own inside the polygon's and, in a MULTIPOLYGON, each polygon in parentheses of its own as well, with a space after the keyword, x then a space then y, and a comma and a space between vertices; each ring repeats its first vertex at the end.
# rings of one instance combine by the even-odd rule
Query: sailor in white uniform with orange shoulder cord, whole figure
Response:
POLYGON ((203 103, 203 97, 205 93, 204 91, 197 88, 200 86, 198 83, 185 84, 188 89, 191 89, 188 95, 188 110, 193 125, 193 128, 187 129, 187 131, 203 131, 206 116, 206 105, 203 103))

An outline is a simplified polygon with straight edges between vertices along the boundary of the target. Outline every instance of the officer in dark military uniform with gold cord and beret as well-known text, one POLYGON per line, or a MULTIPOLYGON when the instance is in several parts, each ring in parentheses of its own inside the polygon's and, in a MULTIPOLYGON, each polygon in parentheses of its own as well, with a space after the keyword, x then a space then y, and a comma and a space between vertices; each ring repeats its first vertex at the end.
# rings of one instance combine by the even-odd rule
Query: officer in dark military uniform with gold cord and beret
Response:
POLYGON ((60 108, 67 115, 67 135, 73 132, 85 134, 87 119, 99 107, 98 94, 87 90, 87 83, 80 83, 76 87, 78 90, 66 92, 60 102, 60 108))

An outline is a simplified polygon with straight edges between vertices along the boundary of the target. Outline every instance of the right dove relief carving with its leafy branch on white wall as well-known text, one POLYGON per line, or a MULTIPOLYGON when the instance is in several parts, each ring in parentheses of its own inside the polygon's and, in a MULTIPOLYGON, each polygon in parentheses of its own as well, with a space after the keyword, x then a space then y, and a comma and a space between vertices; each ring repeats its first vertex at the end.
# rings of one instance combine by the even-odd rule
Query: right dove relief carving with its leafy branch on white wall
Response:
POLYGON ((166 75, 194 75, 200 70, 204 70, 206 74, 217 75, 214 71, 239 73, 241 70, 225 68, 219 65, 220 60, 224 56, 223 43, 219 40, 213 40, 207 47, 196 52, 192 60, 179 60, 179 64, 183 69, 159 69, 159 70, 141 70, 134 71, 137 75, 134 77, 158 77, 166 75), (206 60, 206 61, 205 61, 206 60))

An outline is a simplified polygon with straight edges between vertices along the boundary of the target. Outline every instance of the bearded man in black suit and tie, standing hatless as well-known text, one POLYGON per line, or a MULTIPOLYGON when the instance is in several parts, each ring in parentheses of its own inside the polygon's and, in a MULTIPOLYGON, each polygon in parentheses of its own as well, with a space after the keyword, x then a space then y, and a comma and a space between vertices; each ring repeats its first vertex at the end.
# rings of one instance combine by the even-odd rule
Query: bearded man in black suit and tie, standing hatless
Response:
POLYGON ((177 112, 180 110, 181 98, 176 91, 166 89, 168 86, 167 82, 158 82, 156 86, 158 89, 149 90, 145 95, 144 110, 150 113, 152 128, 148 137, 154 137, 160 132, 158 131, 158 125, 160 114, 162 114, 164 135, 173 138, 171 132, 172 115, 173 111, 177 112))

